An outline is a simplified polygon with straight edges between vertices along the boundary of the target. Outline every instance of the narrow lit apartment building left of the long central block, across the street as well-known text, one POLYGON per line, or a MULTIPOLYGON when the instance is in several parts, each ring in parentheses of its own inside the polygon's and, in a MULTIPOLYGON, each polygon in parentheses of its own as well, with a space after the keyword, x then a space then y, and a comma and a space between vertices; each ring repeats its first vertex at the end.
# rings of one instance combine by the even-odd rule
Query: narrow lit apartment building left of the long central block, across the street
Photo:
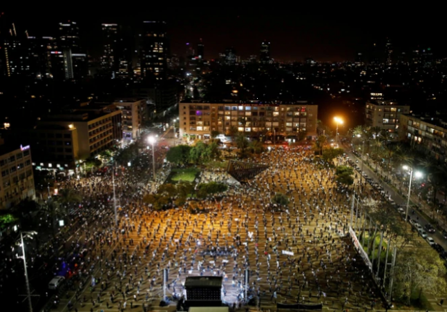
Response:
POLYGON ((123 139, 128 141, 137 139, 146 117, 146 99, 116 99, 113 104, 122 111, 123 139))

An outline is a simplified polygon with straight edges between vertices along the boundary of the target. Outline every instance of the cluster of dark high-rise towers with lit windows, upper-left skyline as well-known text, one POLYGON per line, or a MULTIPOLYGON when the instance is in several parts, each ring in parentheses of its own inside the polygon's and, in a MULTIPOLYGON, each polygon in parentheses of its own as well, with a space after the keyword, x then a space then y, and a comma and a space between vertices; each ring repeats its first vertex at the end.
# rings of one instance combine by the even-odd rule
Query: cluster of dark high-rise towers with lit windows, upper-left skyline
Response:
POLYGON ((37 37, 6 19, 0 14, 0 74, 6 77, 77 80, 89 75, 131 78, 136 73, 153 81, 167 78, 169 38, 164 21, 144 21, 137 33, 103 23, 102 53, 95 61, 82 46, 75 21, 59 23, 55 36, 37 37))

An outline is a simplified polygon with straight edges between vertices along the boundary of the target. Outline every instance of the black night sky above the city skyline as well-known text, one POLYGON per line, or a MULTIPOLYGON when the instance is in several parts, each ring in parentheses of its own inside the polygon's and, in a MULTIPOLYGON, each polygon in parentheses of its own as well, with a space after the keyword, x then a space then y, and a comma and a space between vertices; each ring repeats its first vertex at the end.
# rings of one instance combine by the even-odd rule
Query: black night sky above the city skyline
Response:
POLYGON ((297 14, 300 10, 228 10, 225 6, 142 10, 136 3, 132 9, 120 3, 116 10, 104 11, 76 5, 73 3, 57 14, 54 8, 42 9, 37 5, 27 6, 26 12, 22 8, 3 10, 15 20, 18 31, 28 30, 30 36, 55 36, 59 21, 77 21, 84 44, 94 57, 100 55, 101 23, 137 26, 144 20, 156 19, 167 21, 171 51, 179 56, 185 54, 187 42, 195 44, 200 38, 207 59, 218 57, 219 52, 230 46, 242 58, 259 55, 263 40, 272 43, 272 57, 278 61, 303 61, 306 57, 317 61, 353 60, 357 51, 366 52, 374 42, 383 45, 386 37, 392 38, 395 50, 409 51, 419 45, 431 47, 436 57, 444 57, 447 52, 437 33, 445 26, 442 19, 432 16, 415 19, 378 13, 368 17, 363 14, 326 17, 297 14))

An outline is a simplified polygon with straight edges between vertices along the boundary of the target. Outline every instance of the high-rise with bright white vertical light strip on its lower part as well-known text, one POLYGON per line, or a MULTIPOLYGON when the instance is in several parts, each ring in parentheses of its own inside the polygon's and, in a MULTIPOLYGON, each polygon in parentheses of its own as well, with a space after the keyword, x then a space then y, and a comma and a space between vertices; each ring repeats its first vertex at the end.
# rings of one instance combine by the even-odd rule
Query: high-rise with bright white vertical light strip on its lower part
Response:
POLYGON ((58 46, 64 57, 65 79, 85 78, 88 60, 79 42, 79 27, 76 22, 59 23, 58 46))

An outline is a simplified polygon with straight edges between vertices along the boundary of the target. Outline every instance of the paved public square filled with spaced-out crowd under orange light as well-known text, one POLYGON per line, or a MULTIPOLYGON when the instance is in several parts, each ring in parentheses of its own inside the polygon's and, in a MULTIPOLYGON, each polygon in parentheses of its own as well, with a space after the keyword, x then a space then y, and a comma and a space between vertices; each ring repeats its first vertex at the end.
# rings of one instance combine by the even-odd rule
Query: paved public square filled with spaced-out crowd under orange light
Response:
MULTIPOLYGON (((187 276, 218 275, 224 278, 224 302, 243 307, 249 269, 248 296, 262 309, 276 309, 276 302, 383 309, 370 273, 344 236, 350 197, 336 186, 334 169, 314 162, 312 154, 301 148, 264 153, 256 161, 269 169, 248 184, 231 186, 220 202, 200 202, 207 213, 195 215, 186 208, 152 211, 142 202, 149 184, 118 177, 119 231, 111 230, 113 213, 106 213, 94 231, 77 234, 84 244, 79 248, 88 249, 86 260, 95 264, 95 286, 90 278, 84 285, 75 282, 55 311, 163 309, 155 308, 163 296, 163 269, 169 269, 169 298, 181 297, 187 276), (288 209, 270 204, 277 192, 289 197, 288 209)), ((79 189, 111 200, 110 182, 99 185, 79 189)))

